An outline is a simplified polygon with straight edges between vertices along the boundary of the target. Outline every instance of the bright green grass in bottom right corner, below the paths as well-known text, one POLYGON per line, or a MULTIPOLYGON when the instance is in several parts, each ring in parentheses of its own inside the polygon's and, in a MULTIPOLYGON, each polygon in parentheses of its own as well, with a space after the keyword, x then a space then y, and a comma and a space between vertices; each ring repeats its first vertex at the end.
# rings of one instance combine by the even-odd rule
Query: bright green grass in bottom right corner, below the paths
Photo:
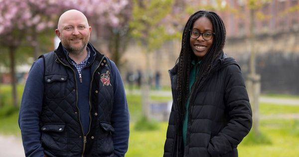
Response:
MULTIPOLYGON (((297 120, 298 121, 298 120, 297 120)), ((295 120, 264 120, 261 131, 271 139, 268 145, 238 146, 239 157, 299 157, 299 122, 295 120)), ((244 141, 249 138, 245 137, 244 141)))

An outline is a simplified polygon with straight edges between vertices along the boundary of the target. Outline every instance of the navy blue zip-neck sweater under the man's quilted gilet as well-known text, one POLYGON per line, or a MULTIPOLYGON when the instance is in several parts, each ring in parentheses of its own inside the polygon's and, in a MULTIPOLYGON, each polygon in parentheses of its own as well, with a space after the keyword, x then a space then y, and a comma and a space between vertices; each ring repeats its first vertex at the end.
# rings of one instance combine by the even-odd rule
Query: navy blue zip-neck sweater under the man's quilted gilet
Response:
MULTIPOLYGON (((95 52, 91 50, 89 58, 90 63, 94 59, 95 52)), ((33 62, 25 84, 21 107, 19 112, 19 127, 21 129, 22 141, 26 157, 43 157, 43 148, 40 143, 39 115, 42 110, 44 94, 44 62, 43 59, 37 59, 33 62)), ((115 129, 113 135, 114 149, 116 157, 123 157, 128 150, 129 140, 129 110, 126 100, 126 94, 121 75, 115 63, 111 61, 112 76, 114 83, 114 107, 111 121, 115 129)), ((76 73, 78 85, 78 108, 80 110, 80 121, 84 134, 89 129, 89 89, 90 89, 90 68, 82 69, 83 82, 79 81, 79 74, 73 66, 76 73)))

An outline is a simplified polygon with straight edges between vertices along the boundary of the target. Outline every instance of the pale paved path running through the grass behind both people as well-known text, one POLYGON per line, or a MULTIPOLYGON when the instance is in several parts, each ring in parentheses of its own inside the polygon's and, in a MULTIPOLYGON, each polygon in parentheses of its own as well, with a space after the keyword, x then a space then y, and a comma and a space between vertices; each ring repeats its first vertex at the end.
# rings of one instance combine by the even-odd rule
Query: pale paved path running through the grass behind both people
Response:
MULTIPOLYGON (((127 94, 140 94, 140 91, 126 91, 127 94)), ((151 91, 150 95, 170 96, 169 91, 151 91)), ((299 99, 260 97, 260 102, 278 105, 299 106, 299 99)), ((298 114, 261 115, 261 119, 299 119, 298 114)), ((20 137, 0 135, 0 157, 25 157, 20 137)))

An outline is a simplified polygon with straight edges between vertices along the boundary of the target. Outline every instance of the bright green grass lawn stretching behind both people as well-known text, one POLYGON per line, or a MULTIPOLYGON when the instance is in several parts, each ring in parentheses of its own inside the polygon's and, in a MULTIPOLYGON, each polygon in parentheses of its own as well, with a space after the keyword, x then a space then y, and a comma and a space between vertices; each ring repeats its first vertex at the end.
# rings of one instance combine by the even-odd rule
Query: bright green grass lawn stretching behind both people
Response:
MULTIPOLYGON (((6 91, 2 91, 3 93, 5 94, 6 91)), ((7 98, 5 99, 7 100, 7 98)), ((127 100, 131 116, 131 130, 126 157, 162 157, 167 122, 156 123, 158 129, 154 131, 135 130, 136 121, 142 117, 141 97, 139 95, 127 95, 127 100)), ((151 100, 168 101, 171 100, 171 97, 152 96, 151 100)), ((0 107, 1 110, 3 111, 3 107, 0 107)), ((260 115, 290 113, 299 113, 299 106, 260 104, 260 115)), ((2 116, 0 115, 0 134, 20 136, 17 117, 17 111, 6 116, 3 116, 2 113, 2 116)), ((299 157, 299 120, 261 119, 260 129, 262 135, 270 143, 252 143, 256 137, 251 133, 238 146, 239 157, 299 157)))

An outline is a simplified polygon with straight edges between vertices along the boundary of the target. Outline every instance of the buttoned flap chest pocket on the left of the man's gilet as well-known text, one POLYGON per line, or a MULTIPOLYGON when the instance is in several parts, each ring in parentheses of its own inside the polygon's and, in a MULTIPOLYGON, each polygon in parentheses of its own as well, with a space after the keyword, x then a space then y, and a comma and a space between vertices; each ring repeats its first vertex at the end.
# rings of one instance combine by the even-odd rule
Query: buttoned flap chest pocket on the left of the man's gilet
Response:
POLYGON ((66 96, 67 75, 51 74, 45 76, 47 99, 64 99, 66 96))

